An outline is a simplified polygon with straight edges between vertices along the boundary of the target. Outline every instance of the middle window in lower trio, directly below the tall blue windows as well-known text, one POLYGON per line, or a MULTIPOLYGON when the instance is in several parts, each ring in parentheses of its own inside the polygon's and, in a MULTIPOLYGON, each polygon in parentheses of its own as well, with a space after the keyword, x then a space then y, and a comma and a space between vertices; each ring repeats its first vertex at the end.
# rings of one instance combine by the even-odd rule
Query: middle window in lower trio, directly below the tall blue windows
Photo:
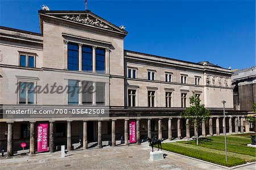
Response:
POLYGON ((95 89, 92 81, 82 81, 82 104, 92 105, 92 98, 95 89))

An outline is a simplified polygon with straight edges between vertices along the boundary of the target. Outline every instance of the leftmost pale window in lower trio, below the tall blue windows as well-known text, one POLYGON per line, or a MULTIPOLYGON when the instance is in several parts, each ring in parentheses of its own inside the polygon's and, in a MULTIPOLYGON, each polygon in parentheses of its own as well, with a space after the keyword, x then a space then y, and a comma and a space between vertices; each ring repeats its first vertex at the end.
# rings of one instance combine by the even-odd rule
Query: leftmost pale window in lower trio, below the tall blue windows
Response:
POLYGON ((79 81, 68 80, 68 105, 79 103, 79 81))

